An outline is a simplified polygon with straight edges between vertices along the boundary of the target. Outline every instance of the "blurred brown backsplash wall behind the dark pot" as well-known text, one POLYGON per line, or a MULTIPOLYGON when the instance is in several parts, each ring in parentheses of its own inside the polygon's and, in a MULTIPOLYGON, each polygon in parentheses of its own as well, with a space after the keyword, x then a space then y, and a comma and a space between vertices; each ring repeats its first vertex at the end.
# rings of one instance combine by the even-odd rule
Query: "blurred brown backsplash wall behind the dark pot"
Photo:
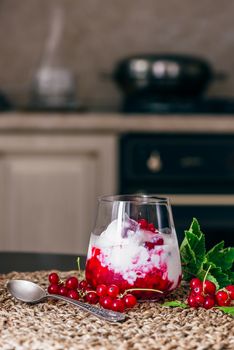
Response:
POLYGON ((234 2, 1 0, 0 89, 19 104, 27 103, 56 6, 65 19, 56 60, 76 74, 77 96, 90 109, 118 108, 121 93, 108 74, 137 53, 202 56, 228 75, 209 94, 234 96, 234 2))

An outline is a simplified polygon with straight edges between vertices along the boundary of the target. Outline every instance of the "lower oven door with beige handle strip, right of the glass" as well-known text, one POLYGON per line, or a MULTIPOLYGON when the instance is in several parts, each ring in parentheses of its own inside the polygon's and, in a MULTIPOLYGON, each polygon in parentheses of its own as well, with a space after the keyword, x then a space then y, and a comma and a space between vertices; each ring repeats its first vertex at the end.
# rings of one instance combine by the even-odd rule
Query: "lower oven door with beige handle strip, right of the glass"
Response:
POLYGON ((225 246, 234 246, 234 194, 162 196, 170 198, 179 243, 195 217, 206 235, 207 249, 222 240, 225 246))

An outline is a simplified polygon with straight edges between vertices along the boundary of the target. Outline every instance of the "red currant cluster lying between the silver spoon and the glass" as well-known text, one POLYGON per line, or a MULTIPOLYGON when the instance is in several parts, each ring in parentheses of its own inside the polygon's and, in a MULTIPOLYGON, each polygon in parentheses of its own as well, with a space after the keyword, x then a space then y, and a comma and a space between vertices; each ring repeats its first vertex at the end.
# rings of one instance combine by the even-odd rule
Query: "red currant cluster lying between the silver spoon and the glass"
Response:
POLYGON ((115 284, 109 286, 99 284, 94 290, 86 280, 79 282, 75 276, 70 276, 63 282, 56 272, 50 273, 48 279, 50 285, 47 290, 50 294, 63 295, 75 300, 82 299, 90 304, 99 303, 105 309, 119 312, 124 312, 137 304, 133 294, 127 291, 120 294, 119 287, 115 284))

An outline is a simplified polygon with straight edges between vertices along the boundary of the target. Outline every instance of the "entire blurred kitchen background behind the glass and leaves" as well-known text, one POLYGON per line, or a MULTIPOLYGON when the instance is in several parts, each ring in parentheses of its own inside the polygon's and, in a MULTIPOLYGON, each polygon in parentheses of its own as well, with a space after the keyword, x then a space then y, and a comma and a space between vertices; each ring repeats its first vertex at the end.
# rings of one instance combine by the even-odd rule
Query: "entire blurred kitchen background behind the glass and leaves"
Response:
POLYGON ((0 1, 0 249, 85 253, 111 193, 169 195, 180 241, 195 216, 233 244, 233 13, 0 1))

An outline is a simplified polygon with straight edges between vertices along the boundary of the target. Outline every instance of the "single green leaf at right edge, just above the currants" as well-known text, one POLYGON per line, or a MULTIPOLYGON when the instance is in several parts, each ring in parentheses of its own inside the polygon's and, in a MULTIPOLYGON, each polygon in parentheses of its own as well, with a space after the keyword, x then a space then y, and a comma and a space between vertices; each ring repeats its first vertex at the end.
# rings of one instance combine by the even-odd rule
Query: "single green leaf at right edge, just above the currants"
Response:
POLYGON ((234 248, 224 248, 224 241, 222 241, 207 252, 206 262, 221 267, 223 271, 229 270, 234 264, 234 248))

